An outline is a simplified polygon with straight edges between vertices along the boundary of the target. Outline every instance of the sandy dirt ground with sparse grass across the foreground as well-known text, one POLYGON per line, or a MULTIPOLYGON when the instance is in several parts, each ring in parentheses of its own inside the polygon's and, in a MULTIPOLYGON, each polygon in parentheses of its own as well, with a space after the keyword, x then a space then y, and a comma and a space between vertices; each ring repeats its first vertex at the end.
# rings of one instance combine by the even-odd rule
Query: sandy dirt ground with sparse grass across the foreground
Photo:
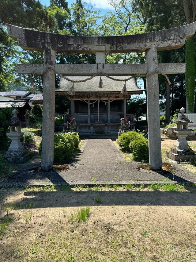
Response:
POLYGON ((1 228, 0 261, 196 260, 195 189, 12 188, 0 195, 1 223, 9 221, 1 228), (78 222, 84 206, 89 218, 78 222))

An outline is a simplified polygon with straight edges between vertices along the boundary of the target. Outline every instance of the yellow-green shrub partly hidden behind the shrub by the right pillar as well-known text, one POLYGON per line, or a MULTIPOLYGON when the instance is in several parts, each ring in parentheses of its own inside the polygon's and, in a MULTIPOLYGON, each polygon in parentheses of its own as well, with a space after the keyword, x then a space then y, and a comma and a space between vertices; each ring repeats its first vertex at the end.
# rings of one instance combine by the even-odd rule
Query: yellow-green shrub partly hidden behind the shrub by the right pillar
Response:
POLYGON ((123 133, 118 139, 119 147, 124 148, 125 150, 129 151, 130 142, 135 139, 139 139, 139 138, 143 138, 143 135, 141 133, 137 133, 134 130, 123 133))

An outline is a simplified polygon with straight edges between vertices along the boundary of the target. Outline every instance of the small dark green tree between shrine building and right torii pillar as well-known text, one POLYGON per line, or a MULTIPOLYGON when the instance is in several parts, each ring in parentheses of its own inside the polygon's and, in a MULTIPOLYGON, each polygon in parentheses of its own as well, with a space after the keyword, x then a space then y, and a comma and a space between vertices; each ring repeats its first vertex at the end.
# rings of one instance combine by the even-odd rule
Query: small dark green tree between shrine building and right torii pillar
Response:
POLYGON ((127 111, 128 114, 134 114, 136 121, 139 120, 142 114, 146 113, 146 100, 139 95, 136 98, 131 98, 128 101, 127 111))

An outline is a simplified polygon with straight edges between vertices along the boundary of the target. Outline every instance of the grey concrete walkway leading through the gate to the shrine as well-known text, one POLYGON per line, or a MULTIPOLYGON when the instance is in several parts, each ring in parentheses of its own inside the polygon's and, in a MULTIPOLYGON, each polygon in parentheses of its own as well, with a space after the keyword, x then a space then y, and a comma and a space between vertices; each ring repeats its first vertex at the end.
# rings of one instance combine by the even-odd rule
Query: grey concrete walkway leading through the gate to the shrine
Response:
POLYGON ((148 170, 147 164, 126 162, 111 139, 85 140, 80 152, 70 164, 55 166, 55 171, 43 172, 40 162, 23 164, 20 171, 0 185, 51 185, 51 184, 149 184, 195 183, 196 175, 171 162, 162 172, 148 170), (37 168, 36 168, 37 167, 37 168), (94 178, 94 179, 92 179, 94 178), (169 178, 169 181, 168 179, 169 178), (96 180, 93 182, 92 180, 96 180))

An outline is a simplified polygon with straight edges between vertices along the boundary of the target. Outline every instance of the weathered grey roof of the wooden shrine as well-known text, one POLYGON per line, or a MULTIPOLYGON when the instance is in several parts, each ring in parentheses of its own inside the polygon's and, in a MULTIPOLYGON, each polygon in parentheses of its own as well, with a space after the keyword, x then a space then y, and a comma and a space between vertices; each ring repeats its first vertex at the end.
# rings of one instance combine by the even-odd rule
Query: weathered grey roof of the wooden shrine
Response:
MULTIPOLYGON (((89 77, 89 75, 66 75, 67 78, 71 80, 84 80, 89 77)), ((117 79, 126 79, 130 75, 112 75, 113 78, 117 79)), ((74 92, 75 93, 104 93, 104 92, 121 92, 125 82, 114 81, 106 76, 101 76, 103 81, 103 88, 99 88, 100 76, 95 76, 94 78, 81 83, 74 83, 74 92)), ((73 83, 60 78, 60 83, 56 93, 58 92, 68 92, 72 87, 73 83)), ((126 90, 128 93, 141 94, 144 89, 139 88, 135 78, 126 81, 126 90)))

